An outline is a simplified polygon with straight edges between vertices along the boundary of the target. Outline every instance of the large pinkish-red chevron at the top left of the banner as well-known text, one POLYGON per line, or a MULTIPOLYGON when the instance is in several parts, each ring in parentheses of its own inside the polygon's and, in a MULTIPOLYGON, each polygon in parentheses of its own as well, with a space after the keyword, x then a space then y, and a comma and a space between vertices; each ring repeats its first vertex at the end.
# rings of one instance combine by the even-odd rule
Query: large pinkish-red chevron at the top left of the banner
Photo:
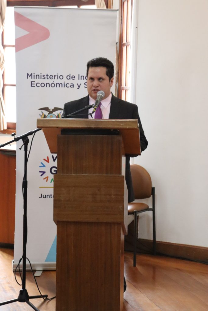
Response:
POLYGON ((19 37, 15 40, 15 50, 19 52, 23 49, 28 48, 34 44, 44 41, 49 38, 50 31, 40 24, 32 21, 26 16, 14 12, 15 25, 26 30, 29 34, 19 37))

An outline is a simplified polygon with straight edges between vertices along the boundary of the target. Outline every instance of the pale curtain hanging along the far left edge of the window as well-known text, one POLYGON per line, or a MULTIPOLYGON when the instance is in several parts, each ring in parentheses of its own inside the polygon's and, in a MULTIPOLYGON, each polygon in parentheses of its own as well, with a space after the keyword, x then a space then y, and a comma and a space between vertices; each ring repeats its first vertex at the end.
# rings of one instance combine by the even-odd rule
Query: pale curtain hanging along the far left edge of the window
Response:
POLYGON ((2 74, 4 71, 4 50, 1 42, 1 34, 4 28, 5 12, 6 12, 7 2, 6 0, 0 0, 0 131, 7 128, 7 122, 5 117, 5 105, 2 96, 3 80, 2 74))

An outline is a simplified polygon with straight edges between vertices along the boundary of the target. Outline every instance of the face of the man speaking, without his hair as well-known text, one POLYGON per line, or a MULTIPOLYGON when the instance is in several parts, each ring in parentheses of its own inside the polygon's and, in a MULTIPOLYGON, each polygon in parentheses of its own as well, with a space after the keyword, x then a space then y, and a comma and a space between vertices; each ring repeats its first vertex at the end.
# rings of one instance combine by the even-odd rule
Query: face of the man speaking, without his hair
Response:
POLYGON ((105 96, 103 99, 107 98, 110 95, 110 88, 114 83, 114 78, 111 78, 106 75, 105 67, 89 67, 88 76, 87 76, 87 91, 89 96, 94 100, 97 98, 98 91, 104 91, 105 96))

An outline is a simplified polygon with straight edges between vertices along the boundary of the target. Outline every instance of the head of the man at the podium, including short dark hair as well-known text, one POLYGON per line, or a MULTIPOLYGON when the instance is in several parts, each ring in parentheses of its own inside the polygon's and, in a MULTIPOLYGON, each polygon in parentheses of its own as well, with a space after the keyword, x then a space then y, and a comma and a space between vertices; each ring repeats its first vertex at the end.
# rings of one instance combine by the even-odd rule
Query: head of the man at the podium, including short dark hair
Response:
POLYGON ((98 91, 104 91, 103 99, 107 98, 113 81, 114 65, 107 58, 93 58, 87 63, 87 91, 94 100, 98 91))

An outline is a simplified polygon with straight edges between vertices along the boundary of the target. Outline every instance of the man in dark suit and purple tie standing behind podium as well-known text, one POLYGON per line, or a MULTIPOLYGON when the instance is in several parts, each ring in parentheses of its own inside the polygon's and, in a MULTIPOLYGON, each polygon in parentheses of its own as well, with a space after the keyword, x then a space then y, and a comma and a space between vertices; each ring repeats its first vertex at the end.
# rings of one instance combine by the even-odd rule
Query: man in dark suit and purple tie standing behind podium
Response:
MULTIPOLYGON (((148 141, 144 135, 142 123, 138 114, 138 107, 135 104, 128 103, 115 97, 110 88, 114 82, 114 65, 107 58, 94 58, 87 63, 87 96, 73 100, 64 104, 62 116, 67 116, 75 111, 78 111, 89 104, 94 104, 97 98, 98 91, 104 91, 104 97, 101 100, 101 111, 103 119, 138 119, 139 133, 140 133, 140 146, 141 151, 145 150, 148 145, 148 141)), ((89 111, 82 111, 76 115, 72 115, 71 118, 94 118, 95 114, 92 114, 93 108, 89 111)), ((130 155, 126 155, 126 185, 128 189, 128 202, 134 201, 133 187, 130 172, 130 155)))

